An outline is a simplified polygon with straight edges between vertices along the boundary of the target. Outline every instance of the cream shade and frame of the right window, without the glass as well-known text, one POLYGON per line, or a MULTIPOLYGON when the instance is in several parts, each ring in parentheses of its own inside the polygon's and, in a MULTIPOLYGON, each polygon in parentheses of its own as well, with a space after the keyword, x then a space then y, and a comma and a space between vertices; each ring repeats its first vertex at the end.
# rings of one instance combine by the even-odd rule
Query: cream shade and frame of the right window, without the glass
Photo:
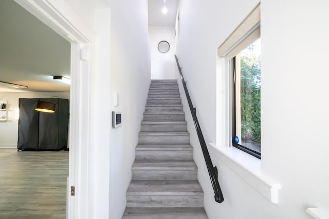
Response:
MULTIPOLYGON (((223 117, 224 124, 219 124, 221 121, 217 121, 217 129, 227 130, 225 135, 217 134, 217 139, 224 137, 222 143, 229 147, 239 148, 240 150, 260 158, 258 151, 254 151, 245 146, 235 144, 232 135, 233 123, 232 117, 235 109, 232 105, 232 58, 239 54, 242 50, 247 48, 250 44, 260 38, 261 35, 261 4, 257 4, 251 12, 246 16, 246 18, 233 30, 233 32, 225 39, 225 41, 217 48, 217 72, 223 74, 223 79, 225 84, 225 97, 223 104, 226 106, 226 116, 223 117), (226 84, 227 83, 227 84, 226 84), (234 111, 233 111, 234 109, 234 111)), ((219 81, 217 83, 220 83, 219 81)), ((220 93, 218 93, 219 95, 220 93)), ((221 113, 218 111, 217 113, 221 113)), ((220 116, 221 117, 221 116, 220 116)), ((234 115, 235 117, 235 115, 234 115)), ((234 135, 235 136, 235 135, 234 135)))

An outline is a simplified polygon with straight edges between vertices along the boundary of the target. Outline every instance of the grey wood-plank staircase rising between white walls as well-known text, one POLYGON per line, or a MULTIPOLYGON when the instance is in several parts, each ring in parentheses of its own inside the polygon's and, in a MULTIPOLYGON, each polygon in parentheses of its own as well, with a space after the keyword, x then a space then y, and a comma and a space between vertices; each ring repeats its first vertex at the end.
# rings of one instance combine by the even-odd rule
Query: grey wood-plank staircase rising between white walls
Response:
POLYGON ((177 80, 152 80, 124 219, 203 219, 204 193, 177 80))

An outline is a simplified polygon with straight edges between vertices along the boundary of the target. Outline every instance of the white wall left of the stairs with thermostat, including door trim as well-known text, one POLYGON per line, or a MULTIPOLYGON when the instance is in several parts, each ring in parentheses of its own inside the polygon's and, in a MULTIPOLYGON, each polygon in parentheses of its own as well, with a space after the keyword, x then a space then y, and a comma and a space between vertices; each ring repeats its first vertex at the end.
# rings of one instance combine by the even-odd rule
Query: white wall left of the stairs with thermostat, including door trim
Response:
POLYGON ((90 48, 89 62, 82 62, 90 75, 79 75, 88 83, 83 90, 76 90, 86 94, 77 101, 82 103, 83 107, 77 108, 86 118, 84 126, 76 130, 81 136, 77 138, 81 142, 75 142, 79 144, 75 150, 78 153, 70 150, 70 157, 76 159, 70 166, 70 174, 74 175, 70 183, 76 186, 76 196, 70 196, 69 214, 79 219, 120 218, 151 78, 148 3, 46 2, 87 38, 88 44, 81 46, 90 48), (114 92, 120 95, 118 107, 114 107, 114 92), (122 113, 122 127, 118 129, 111 128, 112 110, 122 113))

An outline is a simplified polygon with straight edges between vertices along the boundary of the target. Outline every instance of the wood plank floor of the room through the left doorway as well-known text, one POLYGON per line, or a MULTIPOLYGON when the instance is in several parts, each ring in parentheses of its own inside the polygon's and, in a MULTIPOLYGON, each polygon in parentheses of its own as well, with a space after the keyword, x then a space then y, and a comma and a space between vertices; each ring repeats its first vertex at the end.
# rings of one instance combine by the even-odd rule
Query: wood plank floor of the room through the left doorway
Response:
POLYGON ((0 218, 65 218, 68 151, 0 149, 0 218))

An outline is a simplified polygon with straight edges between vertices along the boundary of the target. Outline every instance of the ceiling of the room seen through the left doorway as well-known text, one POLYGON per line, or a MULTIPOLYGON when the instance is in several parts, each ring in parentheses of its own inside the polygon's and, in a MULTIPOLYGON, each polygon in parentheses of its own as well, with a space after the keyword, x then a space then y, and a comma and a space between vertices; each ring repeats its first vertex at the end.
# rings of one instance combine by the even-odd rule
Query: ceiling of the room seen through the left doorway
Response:
POLYGON ((13 0, 1 0, 0 81, 27 91, 68 92, 69 85, 52 79, 56 75, 70 77, 70 43, 13 0))

